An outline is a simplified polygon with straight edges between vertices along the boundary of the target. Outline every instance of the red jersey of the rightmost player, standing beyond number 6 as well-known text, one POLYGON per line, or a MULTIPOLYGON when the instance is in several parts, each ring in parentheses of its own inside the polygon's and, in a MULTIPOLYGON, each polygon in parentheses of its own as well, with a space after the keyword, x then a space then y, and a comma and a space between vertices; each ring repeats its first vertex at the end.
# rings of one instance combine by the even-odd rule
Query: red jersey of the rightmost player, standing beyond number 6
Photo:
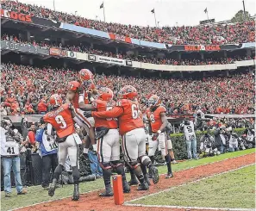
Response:
POLYGON ((159 106, 157 109, 154 111, 151 111, 150 109, 147 109, 147 118, 150 122, 152 132, 156 133, 159 128, 162 125, 162 120, 161 120, 161 113, 165 113, 166 109, 163 106, 159 106))

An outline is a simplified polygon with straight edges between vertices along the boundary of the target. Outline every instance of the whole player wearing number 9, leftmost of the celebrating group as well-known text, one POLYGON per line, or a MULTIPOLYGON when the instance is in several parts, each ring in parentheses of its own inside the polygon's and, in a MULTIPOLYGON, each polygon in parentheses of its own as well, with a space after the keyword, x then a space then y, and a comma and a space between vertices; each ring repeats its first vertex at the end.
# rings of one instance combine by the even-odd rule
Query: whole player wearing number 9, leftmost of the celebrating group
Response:
MULTIPOLYGON (((58 149, 58 166, 53 173, 53 183, 50 185, 48 195, 53 196, 56 189, 56 184, 63 167, 66 164, 66 157, 68 155, 72 165, 72 175, 74 180, 74 191, 72 200, 78 201, 79 199, 79 171, 78 171, 78 144, 81 140, 75 131, 74 120, 72 115, 72 107, 68 104, 62 104, 62 99, 58 94, 50 97, 50 104, 53 111, 48 112, 43 117, 43 120, 55 129, 57 133, 56 142, 59 144, 58 149)), ((76 117, 74 117, 75 119, 76 117)), ((47 133, 52 133, 52 129, 48 129, 47 133)))

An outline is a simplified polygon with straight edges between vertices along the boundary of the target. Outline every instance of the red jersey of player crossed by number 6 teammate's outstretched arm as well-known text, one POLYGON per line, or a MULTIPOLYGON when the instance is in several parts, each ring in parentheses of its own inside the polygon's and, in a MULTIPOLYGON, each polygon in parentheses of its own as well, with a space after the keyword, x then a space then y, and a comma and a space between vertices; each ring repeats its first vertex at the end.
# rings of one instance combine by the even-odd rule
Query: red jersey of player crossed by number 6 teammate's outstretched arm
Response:
MULTIPOLYGON (((97 109, 97 111, 111 110, 116 105, 115 101, 105 102, 102 100, 95 100, 92 102, 92 106, 97 109)), ((97 118, 95 117, 95 127, 108 127, 109 129, 116 129, 117 121, 114 118, 97 118)))

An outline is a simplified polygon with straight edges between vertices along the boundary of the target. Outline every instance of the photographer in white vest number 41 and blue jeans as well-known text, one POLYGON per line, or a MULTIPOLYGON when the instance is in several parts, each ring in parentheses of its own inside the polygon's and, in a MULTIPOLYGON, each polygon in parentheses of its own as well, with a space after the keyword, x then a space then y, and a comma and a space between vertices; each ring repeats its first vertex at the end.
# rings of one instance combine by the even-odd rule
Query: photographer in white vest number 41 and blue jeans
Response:
POLYGON ((11 121, 3 119, 1 121, 1 159, 3 161, 4 192, 6 197, 10 197, 11 192, 11 169, 15 176, 17 195, 24 195, 27 193, 27 190, 22 187, 20 172, 21 160, 19 155, 21 142, 22 135, 18 133, 17 129, 13 129, 11 121))

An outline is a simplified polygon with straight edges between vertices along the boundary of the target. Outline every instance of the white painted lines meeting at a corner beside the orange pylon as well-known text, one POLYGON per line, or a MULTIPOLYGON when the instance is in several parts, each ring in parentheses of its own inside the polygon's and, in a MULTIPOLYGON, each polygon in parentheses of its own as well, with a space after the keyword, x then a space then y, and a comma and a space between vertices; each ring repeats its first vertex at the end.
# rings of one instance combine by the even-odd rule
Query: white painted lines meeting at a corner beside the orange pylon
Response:
POLYGON ((197 180, 194 180, 194 181, 191 181, 189 183, 183 183, 183 184, 179 184, 178 186, 175 186, 175 187, 172 187, 170 189, 164 189, 164 190, 161 190, 157 193, 153 193, 153 194, 149 194, 149 195, 145 195, 145 196, 141 196, 139 198, 136 198, 136 199, 133 199, 133 200, 130 200, 128 202, 124 202, 123 205, 125 206, 136 206, 136 207, 153 207, 153 208, 197 208, 197 209, 215 209, 215 210, 218 210, 218 209, 223 209, 223 210, 245 210, 245 211, 249 211, 249 210, 255 210, 255 209, 247 209, 247 208, 200 208, 200 207, 180 207, 180 206, 168 206, 168 205, 144 205, 144 204, 131 204, 130 202, 136 202, 140 199, 145 199, 149 196, 153 196, 153 195, 159 195, 161 193, 165 193, 165 192, 168 192, 172 189, 177 189, 179 187, 182 187, 182 186, 185 186, 187 184, 190 184, 190 183, 197 183, 197 182, 200 182, 200 181, 203 181, 205 179, 209 179, 211 177, 216 177, 216 176, 219 176, 219 175, 222 175, 222 174, 226 174, 228 172, 232 172, 232 171, 237 171, 237 170, 240 170, 240 169, 243 169, 243 168, 246 168, 248 166, 251 166, 251 165, 254 165, 253 164, 247 164, 247 165, 243 165, 243 166, 240 166, 239 168, 236 168, 236 169, 233 169, 233 170, 229 170, 229 171, 223 171, 221 173, 218 173, 218 174, 215 174, 215 175, 212 175, 212 176, 209 176, 209 177, 203 177, 203 178, 200 178, 200 179, 197 179, 197 180))

